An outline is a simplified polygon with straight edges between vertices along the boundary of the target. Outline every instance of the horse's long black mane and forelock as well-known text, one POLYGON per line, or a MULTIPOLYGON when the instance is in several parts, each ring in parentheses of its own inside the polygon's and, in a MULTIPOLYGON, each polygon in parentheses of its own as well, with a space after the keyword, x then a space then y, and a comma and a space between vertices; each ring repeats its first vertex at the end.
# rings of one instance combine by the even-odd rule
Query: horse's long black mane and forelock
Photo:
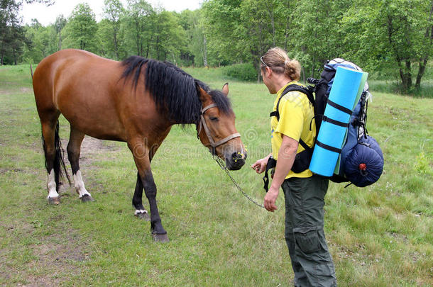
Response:
POLYGON ((125 67, 122 78, 133 76, 133 84, 137 86, 141 69, 146 66, 146 89, 153 95, 153 100, 160 113, 168 113, 175 123, 198 123, 202 103, 199 100, 199 87, 204 89, 217 104, 222 113, 232 112, 229 99, 221 91, 211 91, 202 81, 194 79, 190 74, 170 62, 131 56, 124 60, 125 67))

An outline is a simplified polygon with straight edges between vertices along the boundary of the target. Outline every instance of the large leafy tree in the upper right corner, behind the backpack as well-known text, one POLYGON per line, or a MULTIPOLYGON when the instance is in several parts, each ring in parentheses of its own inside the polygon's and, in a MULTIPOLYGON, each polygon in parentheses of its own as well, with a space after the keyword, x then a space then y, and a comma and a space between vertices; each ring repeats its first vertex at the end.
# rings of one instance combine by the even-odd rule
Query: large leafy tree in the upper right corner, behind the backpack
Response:
POLYGON ((387 74, 397 70, 404 92, 412 90, 412 75, 417 72, 415 88, 420 89, 425 67, 433 54, 433 1, 357 2, 341 21, 346 32, 345 45, 371 69, 387 74), (355 49, 354 43, 363 45, 355 49))

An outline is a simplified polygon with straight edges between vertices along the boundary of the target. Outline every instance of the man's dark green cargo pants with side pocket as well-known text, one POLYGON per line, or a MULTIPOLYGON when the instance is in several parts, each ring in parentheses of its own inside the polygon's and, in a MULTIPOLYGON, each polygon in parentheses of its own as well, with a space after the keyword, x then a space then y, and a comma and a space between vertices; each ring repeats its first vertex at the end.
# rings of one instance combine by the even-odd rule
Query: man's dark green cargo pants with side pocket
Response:
POLYGON ((324 196, 329 180, 322 176, 286 179, 285 241, 295 286, 336 286, 334 262, 324 236, 324 196))

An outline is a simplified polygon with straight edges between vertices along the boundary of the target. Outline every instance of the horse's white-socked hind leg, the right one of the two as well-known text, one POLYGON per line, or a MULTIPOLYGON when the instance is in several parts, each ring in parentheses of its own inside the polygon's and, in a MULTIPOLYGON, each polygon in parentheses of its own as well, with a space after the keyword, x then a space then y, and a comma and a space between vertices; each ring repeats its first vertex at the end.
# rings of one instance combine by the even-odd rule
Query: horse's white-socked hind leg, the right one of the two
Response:
POLYGON ((86 202, 94 201, 94 199, 90 195, 89 191, 86 190, 80 171, 80 150, 83 139, 84 133, 76 130, 71 125, 70 138, 69 142, 67 143, 67 159, 69 159, 69 162, 71 163, 75 191, 77 191, 82 202, 86 202))

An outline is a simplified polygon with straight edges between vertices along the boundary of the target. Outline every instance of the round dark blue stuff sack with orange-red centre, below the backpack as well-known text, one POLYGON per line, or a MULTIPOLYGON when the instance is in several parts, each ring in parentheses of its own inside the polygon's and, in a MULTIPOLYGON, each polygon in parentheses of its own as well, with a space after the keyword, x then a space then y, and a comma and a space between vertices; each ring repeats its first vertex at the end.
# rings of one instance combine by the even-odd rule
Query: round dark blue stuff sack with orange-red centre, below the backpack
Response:
POLYGON ((342 161, 347 180, 358 187, 378 181, 383 171, 383 153, 373 137, 361 137, 358 144, 348 152, 342 161))

